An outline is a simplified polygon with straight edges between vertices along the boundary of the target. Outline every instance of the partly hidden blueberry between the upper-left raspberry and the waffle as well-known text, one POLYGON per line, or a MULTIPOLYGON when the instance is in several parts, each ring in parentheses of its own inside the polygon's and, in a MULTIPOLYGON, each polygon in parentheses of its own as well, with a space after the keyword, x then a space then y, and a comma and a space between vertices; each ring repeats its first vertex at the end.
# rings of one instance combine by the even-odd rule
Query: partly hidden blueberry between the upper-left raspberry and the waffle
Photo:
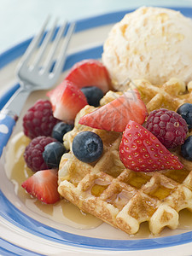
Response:
POLYGON ((56 124, 52 131, 52 137, 54 137, 58 142, 63 143, 63 136, 68 131, 73 129, 73 125, 68 125, 66 123, 60 122, 56 124))

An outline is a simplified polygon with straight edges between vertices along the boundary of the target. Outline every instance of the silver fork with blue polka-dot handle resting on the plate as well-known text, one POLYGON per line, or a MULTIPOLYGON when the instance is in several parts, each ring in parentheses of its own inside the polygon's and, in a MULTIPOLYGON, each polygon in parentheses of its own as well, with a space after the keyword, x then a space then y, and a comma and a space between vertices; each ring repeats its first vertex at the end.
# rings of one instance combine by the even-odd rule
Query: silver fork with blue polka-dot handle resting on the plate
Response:
POLYGON ((0 156, 3 152, 4 146, 6 146, 9 141, 9 137, 12 134, 16 120, 20 116, 20 111, 23 108, 27 97, 33 90, 47 90, 51 88, 59 78, 66 61, 67 47, 70 39, 72 38, 75 24, 72 23, 67 30, 67 22, 65 22, 56 33, 53 43, 50 44, 55 33, 56 20, 44 37, 45 28, 48 22, 49 18, 45 20, 40 32, 38 32, 38 35, 33 38, 32 43, 26 49, 26 53, 21 58, 17 70, 20 89, 15 92, 14 96, 10 98, 9 102, 6 103, 0 112, 0 156), (63 39, 63 33, 66 30, 66 38, 61 44, 61 55, 57 60, 55 60, 55 51, 59 48, 61 39, 63 39), (38 48, 38 45, 42 40, 43 42, 38 48), (42 67, 40 66, 40 63, 43 60, 45 50, 48 49, 49 45, 51 45, 49 55, 44 61, 44 66, 42 67), (29 60, 31 60, 32 55, 37 49, 38 55, 35 61, 33 61, 33 65, 28 66, 29 60), (50 71, 51 67, 53 68, 50 71))

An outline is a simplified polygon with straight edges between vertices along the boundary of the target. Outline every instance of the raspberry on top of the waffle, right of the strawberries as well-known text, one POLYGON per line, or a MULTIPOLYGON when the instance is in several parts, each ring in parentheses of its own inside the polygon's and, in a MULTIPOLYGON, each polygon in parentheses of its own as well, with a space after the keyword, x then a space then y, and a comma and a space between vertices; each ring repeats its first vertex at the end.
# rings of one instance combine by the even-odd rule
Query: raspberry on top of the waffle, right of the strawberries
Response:
POLYGON ((178 113, 165 108, 154 110, 149 114, 146 128, 166 148, 175 148, 183 144, 188 132, 186 121, 178 113))

